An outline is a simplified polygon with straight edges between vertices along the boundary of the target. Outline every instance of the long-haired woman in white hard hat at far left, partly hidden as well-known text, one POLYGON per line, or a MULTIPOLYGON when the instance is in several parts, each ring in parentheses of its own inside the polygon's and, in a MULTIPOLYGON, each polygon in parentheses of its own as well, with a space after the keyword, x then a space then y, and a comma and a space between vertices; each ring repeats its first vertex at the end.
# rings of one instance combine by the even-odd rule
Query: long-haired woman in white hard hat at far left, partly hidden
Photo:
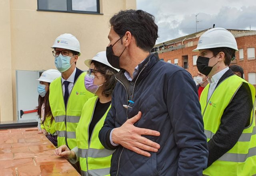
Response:
POLYGON ((39 96, 36 110, 41 120, 41 130, 38 133, 44 133, 55 146, 57 146, 57 134, 55 130, 56 124, 49 104, 49 86, 60 75, 58 70, 49 69, 44 71, 37 80, 40 81, 40 84, 38 84, 37 88, 39 96))

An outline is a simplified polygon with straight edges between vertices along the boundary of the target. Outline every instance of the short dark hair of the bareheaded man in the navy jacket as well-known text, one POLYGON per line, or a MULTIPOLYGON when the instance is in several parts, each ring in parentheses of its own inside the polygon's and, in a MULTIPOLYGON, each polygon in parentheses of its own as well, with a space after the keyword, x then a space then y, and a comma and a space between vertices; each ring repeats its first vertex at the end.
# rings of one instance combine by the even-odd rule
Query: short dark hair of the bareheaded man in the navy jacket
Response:
POLYGON ((153 15, 143 10, 120 10, 109 22, 120 37, 129 31, 140 49, 151 52, 158 38, 158 26, 154 20, 153 15))

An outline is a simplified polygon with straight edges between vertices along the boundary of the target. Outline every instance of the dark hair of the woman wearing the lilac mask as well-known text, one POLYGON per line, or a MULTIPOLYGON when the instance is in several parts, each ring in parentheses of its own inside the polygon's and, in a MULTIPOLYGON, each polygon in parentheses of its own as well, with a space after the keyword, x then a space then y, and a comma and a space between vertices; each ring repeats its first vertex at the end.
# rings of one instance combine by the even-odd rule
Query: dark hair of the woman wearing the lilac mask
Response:
POLYGON ((106 80, 103 85, 102 95, 106 97, 111 96, 117 82, 115 78, 117 71, 114 68, 111 68, 110 66, 107 66, 97 61, 92 61, 92 63, 94 63, 95 68, 101 74, 104 74, 106 80))

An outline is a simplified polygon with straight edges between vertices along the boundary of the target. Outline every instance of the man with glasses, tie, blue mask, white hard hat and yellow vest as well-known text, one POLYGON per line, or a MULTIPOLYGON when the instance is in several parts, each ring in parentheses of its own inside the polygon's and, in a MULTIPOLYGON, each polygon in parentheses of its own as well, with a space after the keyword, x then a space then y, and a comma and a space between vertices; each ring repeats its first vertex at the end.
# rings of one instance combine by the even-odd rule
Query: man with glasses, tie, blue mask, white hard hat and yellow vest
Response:
POLYGON ((79 122, 84 103, 94 96, 84 87, 86 72, 76 68, 80 55, 80 43, 72 34, 58 36, 51 47, 55 65, 61 77, 50 85, 50 106, 56 121, 58 147, 67 145, 70 149, 76 146, 76 126, 79 122))

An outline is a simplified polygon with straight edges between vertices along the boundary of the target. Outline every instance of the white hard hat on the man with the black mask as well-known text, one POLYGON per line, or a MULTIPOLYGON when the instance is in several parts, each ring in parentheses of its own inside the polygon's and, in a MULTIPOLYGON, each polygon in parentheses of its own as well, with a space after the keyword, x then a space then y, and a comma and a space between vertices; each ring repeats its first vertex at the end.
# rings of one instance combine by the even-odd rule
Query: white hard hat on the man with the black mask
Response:
POLYGON ((218 47, 228 47, 238 51, 234 35, 221 27, 212 28, 203 33, 198 40, 196 49, 193 51, 218 47))

